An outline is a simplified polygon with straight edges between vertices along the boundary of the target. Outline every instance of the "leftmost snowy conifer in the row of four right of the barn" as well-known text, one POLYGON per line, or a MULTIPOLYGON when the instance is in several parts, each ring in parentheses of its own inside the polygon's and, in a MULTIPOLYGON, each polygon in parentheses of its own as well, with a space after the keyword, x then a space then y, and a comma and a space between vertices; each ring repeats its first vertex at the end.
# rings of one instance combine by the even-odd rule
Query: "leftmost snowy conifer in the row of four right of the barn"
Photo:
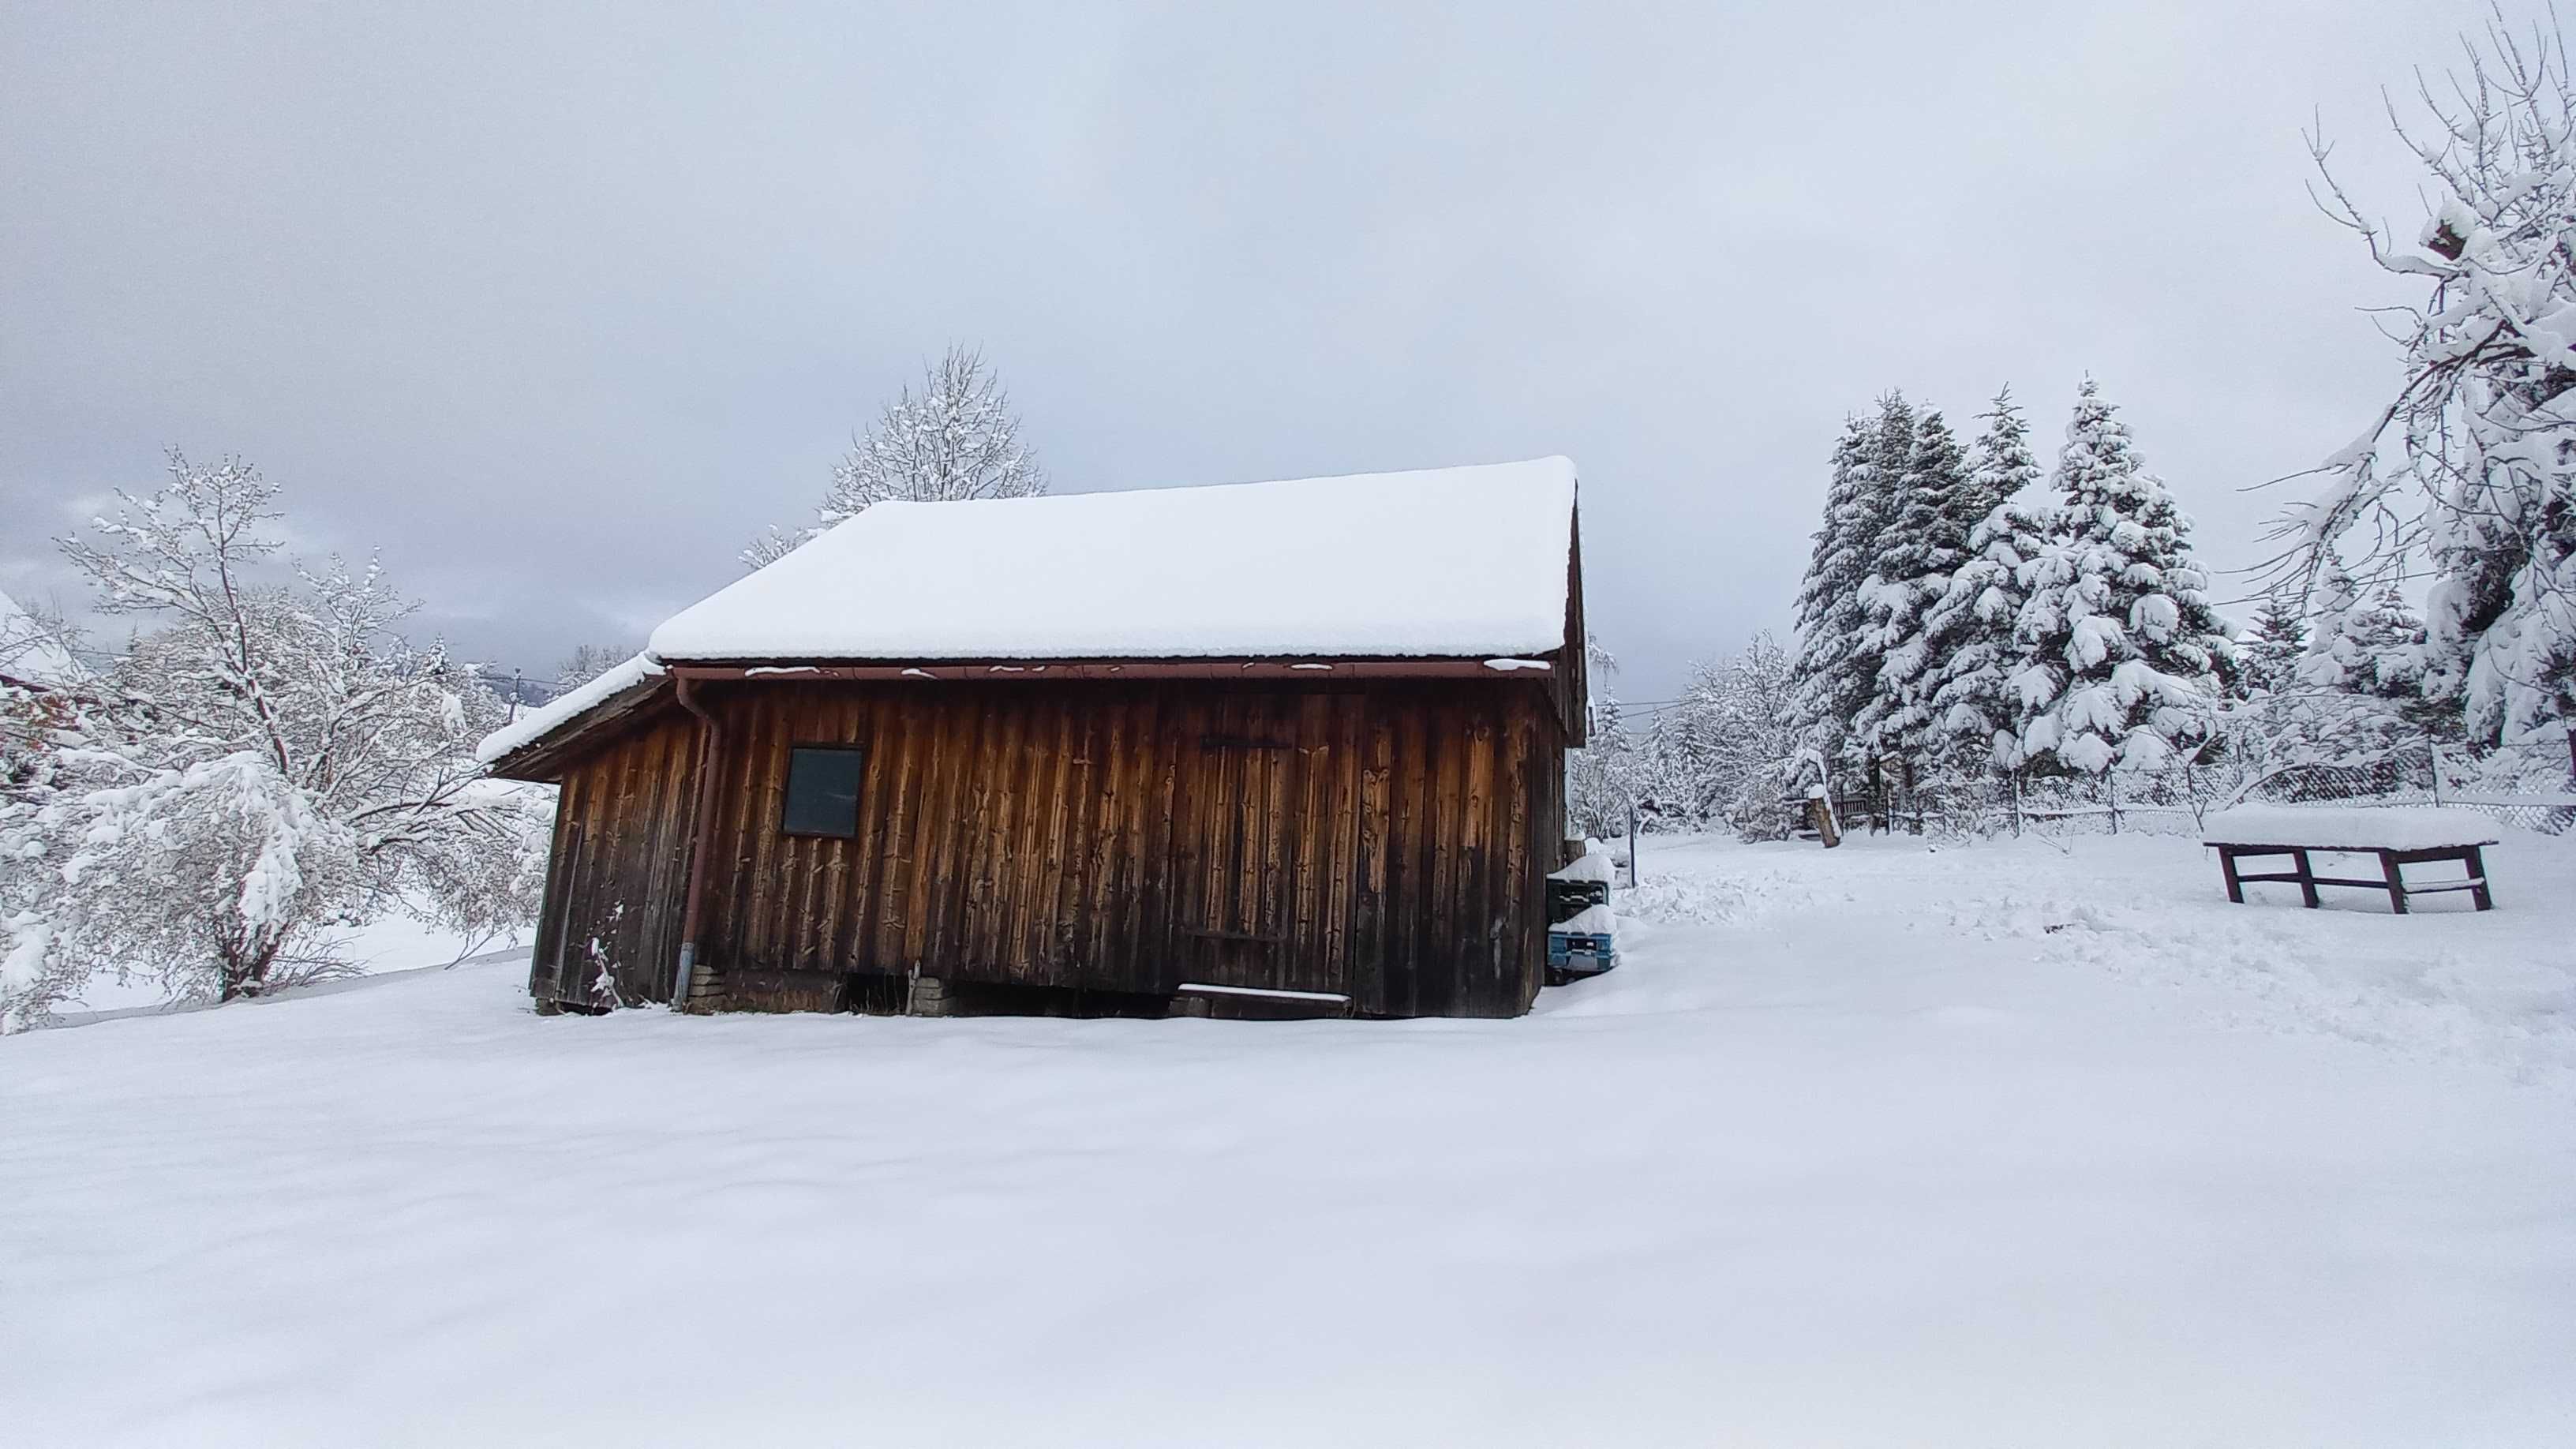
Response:
POLYGON ((1798 683, 1788 724, 1798 730, 1803 748, 1837 768, 1865 758, 1855 722, 1878 694, 1886 663, 1886 650, 1870 634, 1868 596, 1896 518, 1896 487, 1911 459, 1914 407, 1904 394, 1880 397, 1875 420, 1844 420, 1824 492, 1824 526, 1816 529, 1806 580, 1798 585, 1798 683))

